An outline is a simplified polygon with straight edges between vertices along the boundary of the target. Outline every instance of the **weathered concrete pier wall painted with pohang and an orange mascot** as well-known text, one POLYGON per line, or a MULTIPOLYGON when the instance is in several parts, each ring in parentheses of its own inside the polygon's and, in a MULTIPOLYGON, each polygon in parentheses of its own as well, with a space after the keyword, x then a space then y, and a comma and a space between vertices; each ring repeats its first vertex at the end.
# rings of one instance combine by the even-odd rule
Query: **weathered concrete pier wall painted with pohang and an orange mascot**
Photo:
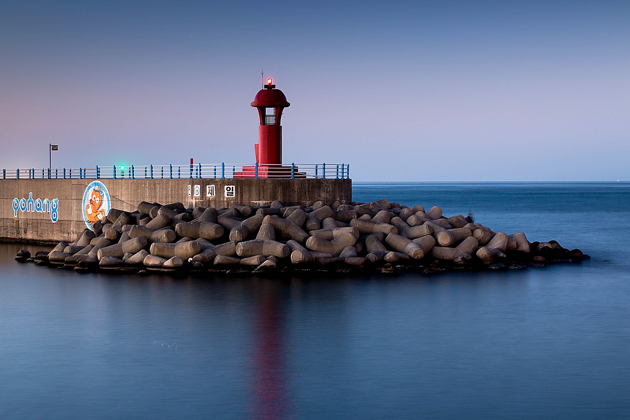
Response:
POLYGON ((110 208, 137 211, 140 201, 187 207, 287 206, 352 201, 350 179, 20 179, 0 180, 0 240, 73 241, 110 208), (89 193, 89 194, 88 194, 89 193), (93 199, 89 202, 89 199, 93 199))

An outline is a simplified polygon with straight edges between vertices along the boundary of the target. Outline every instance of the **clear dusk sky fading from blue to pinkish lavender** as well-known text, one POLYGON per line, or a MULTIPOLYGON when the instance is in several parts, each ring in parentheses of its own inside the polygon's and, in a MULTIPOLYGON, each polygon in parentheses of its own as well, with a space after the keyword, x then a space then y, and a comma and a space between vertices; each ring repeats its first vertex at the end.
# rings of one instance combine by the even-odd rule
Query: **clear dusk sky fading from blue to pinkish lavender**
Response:
POLYGON ((0 167, 284 163, 630 180, 630 1, 0 2, 0 167))

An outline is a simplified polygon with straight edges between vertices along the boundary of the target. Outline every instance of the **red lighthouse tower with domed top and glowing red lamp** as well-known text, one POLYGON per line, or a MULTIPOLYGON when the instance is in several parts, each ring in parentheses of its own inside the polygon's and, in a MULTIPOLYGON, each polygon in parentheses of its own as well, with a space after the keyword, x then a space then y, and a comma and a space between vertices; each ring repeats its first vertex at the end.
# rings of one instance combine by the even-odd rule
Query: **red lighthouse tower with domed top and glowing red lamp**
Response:
POLYGON ((263 89, 256 93, 252 107, 258 108, 260 126, 258 144, 254 145, 256 163, 259 165, 282 165, 282 111, 291 104, 281 90, 276 89, 271 78, 263 89))

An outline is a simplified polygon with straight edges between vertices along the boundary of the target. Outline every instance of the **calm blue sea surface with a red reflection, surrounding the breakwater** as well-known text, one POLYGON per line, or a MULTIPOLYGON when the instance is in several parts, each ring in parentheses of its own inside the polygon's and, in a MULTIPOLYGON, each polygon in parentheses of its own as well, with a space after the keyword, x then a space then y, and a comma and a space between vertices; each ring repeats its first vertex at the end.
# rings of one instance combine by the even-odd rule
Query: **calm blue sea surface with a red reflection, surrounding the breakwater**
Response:
POLYGON ((0 418, 630 418, 630 184, 358 183, 592 260, 173 279, 0 244, 0 418))

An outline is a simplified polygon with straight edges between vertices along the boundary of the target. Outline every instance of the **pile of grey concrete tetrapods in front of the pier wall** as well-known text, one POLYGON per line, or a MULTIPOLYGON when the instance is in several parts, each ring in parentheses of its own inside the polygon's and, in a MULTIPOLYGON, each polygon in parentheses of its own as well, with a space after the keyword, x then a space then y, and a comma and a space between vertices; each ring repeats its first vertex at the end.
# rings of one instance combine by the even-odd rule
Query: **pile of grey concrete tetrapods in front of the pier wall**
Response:
POLYGON ((558 242, 529 242, 522 232, 495 232, 461 214, 387 200, 312 206, 280 201, 229 209, 181 202, 140 202, 112 209, 72 243, 15 259, 77 272, 175 275, 305 272, 431 274, 448 270, 544 267, 588 259, 558 242))

